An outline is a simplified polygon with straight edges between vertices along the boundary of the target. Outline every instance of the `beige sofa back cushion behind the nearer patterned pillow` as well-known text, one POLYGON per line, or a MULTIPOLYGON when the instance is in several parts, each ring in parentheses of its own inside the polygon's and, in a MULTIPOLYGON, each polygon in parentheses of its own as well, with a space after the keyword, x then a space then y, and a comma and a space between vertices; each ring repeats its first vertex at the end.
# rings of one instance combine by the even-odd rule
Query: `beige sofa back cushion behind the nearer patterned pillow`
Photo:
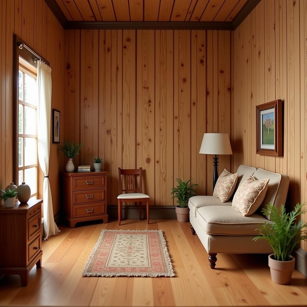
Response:
MULTIPOLYGON (((261 209, 266 208, 266 205, 270 202, 278 208, 281 204, 285 204, 289 188, 289 176, 268 172, 264 169, 257 169, 253 176, 257 180, 270 179, 266 196, 257 213, 262 214, 261 209)), ((270 219, 270 216, 266 216, 266 218, 270 219)))

